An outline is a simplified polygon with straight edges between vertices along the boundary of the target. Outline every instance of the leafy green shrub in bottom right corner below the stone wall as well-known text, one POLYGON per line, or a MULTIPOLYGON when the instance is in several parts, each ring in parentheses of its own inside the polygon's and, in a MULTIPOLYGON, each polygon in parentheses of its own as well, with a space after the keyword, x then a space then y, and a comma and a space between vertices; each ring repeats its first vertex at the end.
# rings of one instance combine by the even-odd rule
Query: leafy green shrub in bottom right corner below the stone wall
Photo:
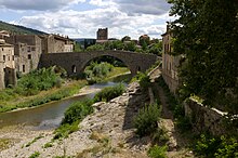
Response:
POLYGON ((235 158, 238 156, 237 139, 201 134, 195 144, 195 153, 208 158, 235 158))

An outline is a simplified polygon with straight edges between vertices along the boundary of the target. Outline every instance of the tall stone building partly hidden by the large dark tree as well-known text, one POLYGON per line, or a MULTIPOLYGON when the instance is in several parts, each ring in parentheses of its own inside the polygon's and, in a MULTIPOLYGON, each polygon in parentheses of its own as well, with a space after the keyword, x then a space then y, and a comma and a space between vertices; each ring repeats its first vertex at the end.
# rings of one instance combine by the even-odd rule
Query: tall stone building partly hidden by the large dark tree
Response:
POLYGON ((172 93, 176 92, 178 87, 178 73, 181 56, 172 55, 172 32, 170 26, 167 26, 167 32, 162 35, 162 77, 172 93))

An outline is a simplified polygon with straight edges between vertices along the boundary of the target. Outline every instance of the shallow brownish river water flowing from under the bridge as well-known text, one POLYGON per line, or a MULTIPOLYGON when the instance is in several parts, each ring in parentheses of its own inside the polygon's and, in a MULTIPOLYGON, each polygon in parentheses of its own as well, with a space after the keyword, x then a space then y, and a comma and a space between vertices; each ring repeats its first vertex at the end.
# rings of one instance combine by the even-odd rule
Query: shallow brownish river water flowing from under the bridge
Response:
MULTIPOLYGON (((116 82, 106 82, 89 85, 89 89, 103 89, 117 84, 116 82)), ((62 100, 58 102, 52 102, 38 106, 35 108, 28 108, 24 110, 16 110, 5 114, 0 114, 0 129, 8 126, 24 126, 32 130, 51 130, 60 126, 62 118, 64 117, 65 110, 68 106, 85 97, 93 97, 95 92, 74 96, 70 98, 62 100)))

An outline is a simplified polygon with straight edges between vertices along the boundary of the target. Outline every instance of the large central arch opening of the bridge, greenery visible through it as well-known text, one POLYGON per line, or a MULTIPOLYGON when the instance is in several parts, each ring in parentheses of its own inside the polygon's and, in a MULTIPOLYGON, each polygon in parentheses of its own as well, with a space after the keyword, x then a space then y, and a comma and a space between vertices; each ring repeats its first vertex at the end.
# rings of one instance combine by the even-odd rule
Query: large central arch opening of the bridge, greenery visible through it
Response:
POLYGON ((105 79, 108 80, 108 78, 111 81, 124 82, 131 79, 130 67, 123 61, 109 55, 102 55, 90 60, 83 66, 83 73, 91 83, 105 79))

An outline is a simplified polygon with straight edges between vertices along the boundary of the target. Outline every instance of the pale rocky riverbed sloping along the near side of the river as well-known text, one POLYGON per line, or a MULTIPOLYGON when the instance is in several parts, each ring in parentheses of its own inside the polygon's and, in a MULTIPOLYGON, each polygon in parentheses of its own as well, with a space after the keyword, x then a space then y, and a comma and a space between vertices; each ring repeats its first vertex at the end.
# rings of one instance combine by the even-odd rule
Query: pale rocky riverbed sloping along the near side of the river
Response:
POLYGON ((94 104, 95 111, 80 122, 77 132, 53 142, 53 131, 32 131, 24 126, 1 129, 0 157, 27 158, 37 154, 42 158, 146 158, 149 137, 138 139, 132 127, 133 117, 146 102, 148 96, 140 91, 138 83, 131 83, 121 96, 94 104))

